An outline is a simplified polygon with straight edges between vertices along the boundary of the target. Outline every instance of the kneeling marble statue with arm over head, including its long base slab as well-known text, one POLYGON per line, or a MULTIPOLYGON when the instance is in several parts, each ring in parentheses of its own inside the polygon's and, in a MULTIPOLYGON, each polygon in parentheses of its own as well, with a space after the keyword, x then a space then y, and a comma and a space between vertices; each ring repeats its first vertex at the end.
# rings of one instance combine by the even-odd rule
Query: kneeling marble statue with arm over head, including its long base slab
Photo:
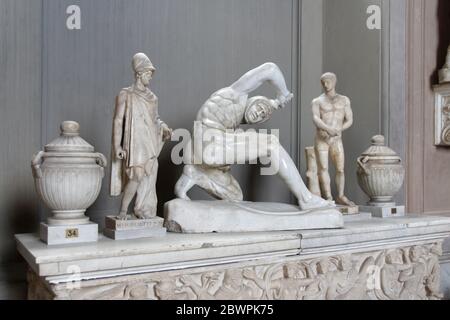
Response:
MULTIPOLYGON (((259 124, 283 108, 293 95, 280 68, 265 63, 220 89, 204 103, 194 125, 194 137, 185 148, 183 174, 176 183, 178 199, 164 206, 165 226, 178 233, 259 232, 335 229, 344 226, 333 202, 312 194, 287 151, 275 135, 240 130, 241 124, 259 124), (264 83, 277 90, 277 97, 249 98, 264 83), (231 156, 230 156, 231 155, 231 156), (245 202, 233 164, 271 165, 297 198, 298 206, 283 203, 245 202), (194 186, 218 201, 191 201, 194 186)), ((261 173, 265 174, 263 170, 261 173)))

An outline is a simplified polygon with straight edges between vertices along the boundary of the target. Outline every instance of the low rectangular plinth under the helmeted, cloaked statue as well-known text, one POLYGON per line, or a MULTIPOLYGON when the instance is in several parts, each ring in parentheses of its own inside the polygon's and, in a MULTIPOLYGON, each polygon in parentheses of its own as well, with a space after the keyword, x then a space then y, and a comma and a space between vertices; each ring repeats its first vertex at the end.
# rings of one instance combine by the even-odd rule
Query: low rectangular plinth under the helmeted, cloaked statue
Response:
POLYGON ((137 219, 128 216, 127 220, 120 220, 117 217, 108 216, 105 219, 103 234, 113 240, 157 238, 166 235, 163 224, 164 219, 160 217, 137 219))

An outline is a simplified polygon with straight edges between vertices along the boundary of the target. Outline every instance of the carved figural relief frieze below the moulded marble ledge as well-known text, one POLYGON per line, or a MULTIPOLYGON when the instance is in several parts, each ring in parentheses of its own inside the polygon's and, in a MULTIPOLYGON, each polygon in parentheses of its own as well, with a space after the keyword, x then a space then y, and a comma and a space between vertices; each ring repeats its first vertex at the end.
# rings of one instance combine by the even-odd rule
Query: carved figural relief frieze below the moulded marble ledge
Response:
MULTIPOLYGON (((57 299, 114 300, 425 300, 441 299, 441 243, 368 253, 127 276, 61 289, 57 299), (206 270, 206 271, 205 271, 206 270)), ((35 298, 44 286, 29 277, 35 298)), ((32 296, 32 294, 31 294, 32 296)))

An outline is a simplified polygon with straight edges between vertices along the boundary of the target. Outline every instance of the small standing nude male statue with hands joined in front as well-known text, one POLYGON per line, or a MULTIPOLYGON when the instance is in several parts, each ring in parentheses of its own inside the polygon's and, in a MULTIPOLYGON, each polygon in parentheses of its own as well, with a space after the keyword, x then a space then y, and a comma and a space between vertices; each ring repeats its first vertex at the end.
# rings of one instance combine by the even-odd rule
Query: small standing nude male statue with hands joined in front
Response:
POLYGON ((336 186, 338 196, 336 203, 354 206, 344 194, 345 156, 342 133, 353 125, 353 112, 350 99, 336 93, 337 77, 334 73, 325 73, 321 77, 324 93, 313 100, 312 111, 317 127, 314 148, 318 163, 319 181, 323 198, 333 200, 331 195, 328 158, 330 156, 336 168, 336 186))

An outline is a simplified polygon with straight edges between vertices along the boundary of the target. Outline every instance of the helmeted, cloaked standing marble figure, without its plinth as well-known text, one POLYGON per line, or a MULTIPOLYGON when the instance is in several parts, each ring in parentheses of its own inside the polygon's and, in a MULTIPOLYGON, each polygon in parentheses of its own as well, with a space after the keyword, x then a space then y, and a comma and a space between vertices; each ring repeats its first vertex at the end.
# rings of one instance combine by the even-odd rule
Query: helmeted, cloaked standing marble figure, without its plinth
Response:
POLYGON ((156 217, 158 156, 172 130, 159 118, 158 97, 149 89, 155 72, 143 53, 133 57, 135 83, 122 89, 116 99, 113 124, 111 195, 123 199, 119 219, 126 220, 128 207, 136 196, 133 215, 138 219, 156 217))

